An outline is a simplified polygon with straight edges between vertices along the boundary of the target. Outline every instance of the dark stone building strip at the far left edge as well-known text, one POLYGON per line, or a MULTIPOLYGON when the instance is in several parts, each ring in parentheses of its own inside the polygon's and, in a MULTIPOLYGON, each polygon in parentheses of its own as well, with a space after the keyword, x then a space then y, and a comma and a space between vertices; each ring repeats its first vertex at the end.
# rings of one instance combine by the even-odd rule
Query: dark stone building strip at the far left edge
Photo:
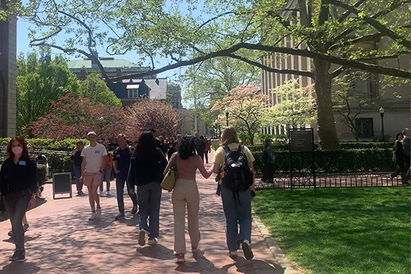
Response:
POLYGON ((16 24, 15 17, 0 21, 0 137, 16 135, 16 24))

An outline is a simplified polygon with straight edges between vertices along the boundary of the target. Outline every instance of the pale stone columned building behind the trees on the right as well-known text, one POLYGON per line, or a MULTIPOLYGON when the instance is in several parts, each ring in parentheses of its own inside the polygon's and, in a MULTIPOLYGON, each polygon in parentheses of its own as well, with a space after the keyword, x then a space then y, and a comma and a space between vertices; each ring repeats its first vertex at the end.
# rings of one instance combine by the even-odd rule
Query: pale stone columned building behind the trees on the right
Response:
MULTIPOLYGON (((290 1, 289 5, 292 5, 294 2, 295 1, 290 1)), ((292 10, 290 7, 288 8, 288 10, 292 10)), ((299 16, 297 11, 294 10, 293 12, 296 12, 297 17, 299 16)), ((382 38, 381 40, 364 41, 361 45, 356 44, 356 47, 362 48, 365 51, 384 49, 388 48, 389 42, 389 40, 382 38)), ((285 37, 282 46, 299 49, 305 47, 303 43, 297 44, 297 41, 294 41, 292 36, 285 37)), ((297 55, 266 55, 262 58, 261 62, 265 66, 275 69, 312 71, 312 61, 310 58, 297 55)), ((403 58, 398 58, 397 60, 378 60, 376 64, 392 67, 397 65, 401 67, 401 69, 406 69, 410 68, 410 57, 409 55, 404 55, 403 58)), ((338 66, 332 65, 329 68, 329 71, 332 72, 337 68, 338 66)), ((350 71, 356 73, 355 70, 350 69, 350 71)), ((364 75, 366 75, 366 73, 364 75)), ((299 86, 301 87, 314 84, 314 79, 310 77, 263 71, 262 92, 269 96, 269 100, 266 101, 267 108, 281 101, 281 98, 278 98, 277 95, 271 92, 271 90, 281 86, 284 82, 290 79, 298 79, 299 86)), ((354 119, 359 140, 372 140, 373 138, 382 135, 395 138, 395 134, 401 132, 404 127, 410 126, 410 85, 384 83, 382 82, 382 79, 382 75, 371 75, 369 73, 366 77, 356 77, 352 80, 352 89, 355 91, 355 96, 358 100, 351 101, 351 108, 355 112, 359 112, 358 116, 354 119), (358 103, 360 101, 362 103, 358 103)), ((333 86, 333 90, 336 90, 337 88, 338 86, 333 86)), ((334 101, 334 104, 335 103, 336 102, 334 101)), ((336 131, 339 140, 355 140, 356 136, 344 123, 344 117, 341 114, 334 112, 334 121, 336 123, 336 131)), ((318 134, 316 134, 318 126, 314 123, 312 125, 306 125, 306 127, 314 128, 314 138, 318 140, 318 134)), ((262 132, 268 134, 287 134, 286 125, 263 127, 262 132)))

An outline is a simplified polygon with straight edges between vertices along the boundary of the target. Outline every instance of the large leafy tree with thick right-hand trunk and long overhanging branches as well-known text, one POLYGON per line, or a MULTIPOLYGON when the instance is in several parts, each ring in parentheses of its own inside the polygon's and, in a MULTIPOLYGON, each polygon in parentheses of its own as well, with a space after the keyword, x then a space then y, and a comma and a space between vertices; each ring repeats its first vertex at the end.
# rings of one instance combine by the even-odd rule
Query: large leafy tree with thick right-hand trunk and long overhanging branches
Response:
POLYGON ((182 11, 182 1, 29 0, 17 10, 35 24, 29 32, 31 45, 85 55, 95 60, 106 81, 110 79, 97 58, 99 49, 110 55, 133 51, 141 64, 149 62, 151 69, 134 75, 139 77, 219 56, 312 77, 325 149, 339 147, 331 86, 345 67, 411 79, 411 71, 403 69, 403 56, 411 52, 410 0, 184 2, 187 10, 182 11), (380 47, 364 50, 363 42, 380 47), (249 60, 248 51, 308 57, 313 70, 264 66, 249 60), (169 64, 157 68, 156 58, 168 58, 169 64), (331 71, 332 64, 338 66, 331 71))

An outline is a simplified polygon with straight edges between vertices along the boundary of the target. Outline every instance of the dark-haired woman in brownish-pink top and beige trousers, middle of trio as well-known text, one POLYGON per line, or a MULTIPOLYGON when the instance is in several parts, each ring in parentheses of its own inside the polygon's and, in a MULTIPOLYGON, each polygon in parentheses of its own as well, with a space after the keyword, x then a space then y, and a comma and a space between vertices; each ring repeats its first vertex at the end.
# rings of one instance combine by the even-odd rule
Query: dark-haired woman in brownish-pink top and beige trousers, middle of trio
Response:
POLYGON ((174 213, 174 251, 176 262, 184 262, 186 253, 186 208, 188 218, 188 234, 191 241, 191 249, 196 250, 201 239, 199 231, 199 207, 200 197, 195 173, 197 169, 204 178, 210 177, 212 170, 206 170, 203 160, 196 154, 197 138, 195 136, 184 136, 179 144, 178 153, 171 156, 164 174, 176 162, 177 180, 171 201, 174 213), (177 159, 175 159, 177 158, 177 159))

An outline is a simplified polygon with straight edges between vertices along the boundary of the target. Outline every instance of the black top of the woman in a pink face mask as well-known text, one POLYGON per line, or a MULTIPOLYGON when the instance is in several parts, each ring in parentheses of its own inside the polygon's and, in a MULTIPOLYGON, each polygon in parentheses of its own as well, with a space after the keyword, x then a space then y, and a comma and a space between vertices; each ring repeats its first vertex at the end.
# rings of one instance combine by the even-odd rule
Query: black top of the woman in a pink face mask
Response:
POLYGON ((6 159, 0 170, 1 195, 7 196, 9 192, 21 192, 27 188, 32 193, 38 190, 36 163, 21 159, 14 164, 12 158, 6 159))

